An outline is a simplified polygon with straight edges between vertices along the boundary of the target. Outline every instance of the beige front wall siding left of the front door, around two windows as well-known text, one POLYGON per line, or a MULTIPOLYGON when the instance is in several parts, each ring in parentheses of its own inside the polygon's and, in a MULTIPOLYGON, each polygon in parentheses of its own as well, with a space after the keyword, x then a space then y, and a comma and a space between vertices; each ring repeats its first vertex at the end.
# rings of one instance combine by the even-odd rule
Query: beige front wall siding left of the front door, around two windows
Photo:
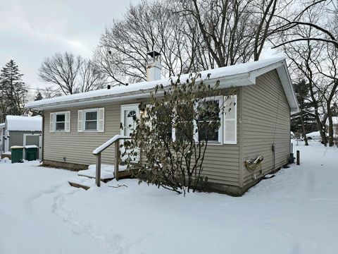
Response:
MULTIPOLYGON (((120 105, 90 105, 89 107, 57 109, 44 112, 44 159, 75 164, 95 164, 92 151, 116 134, 120 134, 120 105), (105 131, 77 132, 77 111, 79 109, 105 108, 105 131), (49 132, 49 113, 70 111, 70 132, 49 132), (65 159, 64 159, 65 158, 65 159)), ((114 163, 113 146, 102 153, 103 164, 114 163)))

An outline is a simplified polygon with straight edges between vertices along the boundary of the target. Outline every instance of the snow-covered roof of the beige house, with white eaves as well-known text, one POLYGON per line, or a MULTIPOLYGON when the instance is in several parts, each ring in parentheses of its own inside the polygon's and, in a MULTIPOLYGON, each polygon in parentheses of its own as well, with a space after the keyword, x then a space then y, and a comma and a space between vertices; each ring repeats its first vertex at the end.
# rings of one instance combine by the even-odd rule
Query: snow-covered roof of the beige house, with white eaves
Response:
MULTIPOLYGON (((217 80, 220 81, 220 88, 239 87, 244 85, 256 84, 256 78, 259 75, 277 69, 278 75, 282 82, 287 100, 293 112, 299 111, 298 102, 294 95, 287 63, 284 58, 264 59, 249 63, 239 63, 233 66, 214 68, 207 71, 201 71, 201 78, 204 83, 215 85, 217 80)), ((180 80, 187 80, 191 74, 180 76, 180 80)), ((89 92, 82 92, 75 95, 65 95, 63 97, 54 97, 51 99, 42 99, 26 104, 28 109, 58 109, 63 107, 75 107, 89 104, 104 102, 118 102, 127 99, 138 99, 149 97, 149 93, 154 90, 156 85, 170 85, 170 79, 175 80, 177 77, 165 78, 162 80, 144 81, 130 85, 120 85, 111 89, 101 89, 89 92)))

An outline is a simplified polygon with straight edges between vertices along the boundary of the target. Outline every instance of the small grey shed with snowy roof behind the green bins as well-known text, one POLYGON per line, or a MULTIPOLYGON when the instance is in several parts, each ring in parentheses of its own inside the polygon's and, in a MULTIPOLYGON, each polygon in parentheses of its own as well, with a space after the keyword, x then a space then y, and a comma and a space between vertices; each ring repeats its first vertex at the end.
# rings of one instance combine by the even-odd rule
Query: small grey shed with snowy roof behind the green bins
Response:
MULTIPOLYGON (((37 158, 42 157, 42 117, 41 116, 6 116, 1 131, 1 151, 11 154, 11 147, 19 145, 37 145, 37 158)), ((1 128, 1 126, 0 126, 1 128)), ((25 153, 24 153, 25 159, 25 153)))

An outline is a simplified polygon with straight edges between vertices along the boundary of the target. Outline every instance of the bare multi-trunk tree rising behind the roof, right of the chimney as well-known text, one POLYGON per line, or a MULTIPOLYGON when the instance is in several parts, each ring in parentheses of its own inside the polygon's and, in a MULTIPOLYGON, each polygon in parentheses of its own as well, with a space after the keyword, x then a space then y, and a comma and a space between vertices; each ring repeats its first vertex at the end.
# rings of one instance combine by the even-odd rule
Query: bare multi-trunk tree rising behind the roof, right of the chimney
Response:
POLYGON ((192 16, 203 37, 203 42, 219 67, 247 61, 253 52, 250 49, 253 31, 244 28, 250 15, 248 1, 181 1, 181 11, 192 16), (248 50, 249 48, 249 50, 248 50))

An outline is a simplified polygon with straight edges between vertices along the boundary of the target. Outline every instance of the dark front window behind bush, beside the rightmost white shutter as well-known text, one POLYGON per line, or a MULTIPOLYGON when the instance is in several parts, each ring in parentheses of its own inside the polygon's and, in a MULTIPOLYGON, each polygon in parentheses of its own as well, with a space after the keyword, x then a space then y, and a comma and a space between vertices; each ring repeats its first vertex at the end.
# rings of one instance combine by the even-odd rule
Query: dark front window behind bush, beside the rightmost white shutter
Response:
POLYGON ((208 142, 222 142, 222 99, 206 99, 199 102, 197 110, 199 119, 196 128, 198 129, 199 140, 208 140, 208 142))

